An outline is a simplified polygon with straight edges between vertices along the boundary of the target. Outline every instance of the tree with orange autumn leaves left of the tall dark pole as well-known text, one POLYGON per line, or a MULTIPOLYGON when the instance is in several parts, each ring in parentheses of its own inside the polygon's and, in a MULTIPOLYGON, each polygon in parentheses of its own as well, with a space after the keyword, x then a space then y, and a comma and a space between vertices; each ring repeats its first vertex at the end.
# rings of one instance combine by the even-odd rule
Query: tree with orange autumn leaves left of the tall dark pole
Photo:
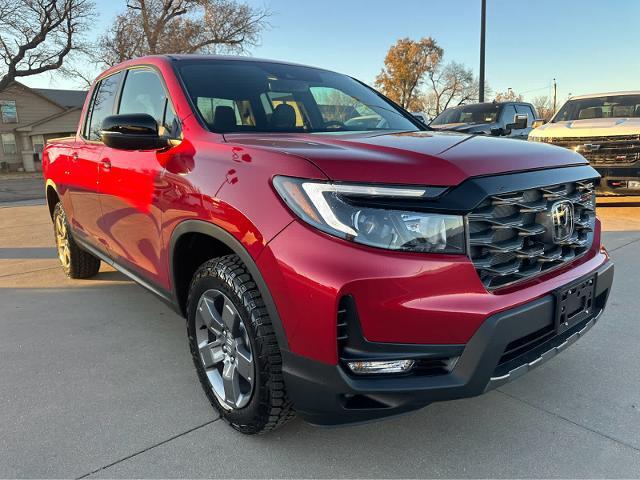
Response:
POLYGON ((376 77, 376 87, 403 108, 419 104, 419 89, 424 77, 442 58, 443 50, 431 37, 415 41, 401 38, 384 59, 384 68, 376 77))

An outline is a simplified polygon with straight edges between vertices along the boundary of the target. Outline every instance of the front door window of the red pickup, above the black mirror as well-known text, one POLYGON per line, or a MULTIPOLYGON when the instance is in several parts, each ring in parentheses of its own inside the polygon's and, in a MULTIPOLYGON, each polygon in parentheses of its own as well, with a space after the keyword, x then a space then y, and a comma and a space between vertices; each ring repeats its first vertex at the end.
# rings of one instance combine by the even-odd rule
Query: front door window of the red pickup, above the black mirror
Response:
POLYGON ((134 68, 127 72, 118 113, 146 113, 158 122, 160 135, 180 135, 180 123, 162 80, 152 70, 134 68))

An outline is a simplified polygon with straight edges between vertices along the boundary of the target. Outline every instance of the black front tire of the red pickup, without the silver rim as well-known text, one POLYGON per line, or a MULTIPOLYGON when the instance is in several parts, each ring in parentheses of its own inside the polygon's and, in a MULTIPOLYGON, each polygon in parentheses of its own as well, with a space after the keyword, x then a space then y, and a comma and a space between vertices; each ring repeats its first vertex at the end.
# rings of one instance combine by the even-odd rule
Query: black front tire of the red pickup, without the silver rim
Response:
POLYGON ((209 260, 196 271, 187 300, 187 333, 202 388, 223 420, 233 428, 245 434, 261 434, 294 418, 295 412, 285 390, 282 356, 271 319, 258 287, 237 255, 209 260), (212 289, 222 292, 231 300, 250 341, 255 379, 249 403, 243 408, 229 409, 221 405, 198 349, 196 310, 203 294, 212 289))

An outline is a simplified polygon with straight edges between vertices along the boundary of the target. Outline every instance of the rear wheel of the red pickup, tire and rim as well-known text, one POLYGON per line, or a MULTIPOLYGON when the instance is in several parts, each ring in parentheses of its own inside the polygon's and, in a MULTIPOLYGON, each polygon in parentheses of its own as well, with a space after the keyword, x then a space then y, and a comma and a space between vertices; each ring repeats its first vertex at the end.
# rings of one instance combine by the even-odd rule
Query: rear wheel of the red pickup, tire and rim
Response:
POLYGON ((80 248, 73 239, 64 208, 59 202, 53 210, 53 233, 56 239, 58 259, 67 277, 89 278, 100 271, 100 259, 80 248))

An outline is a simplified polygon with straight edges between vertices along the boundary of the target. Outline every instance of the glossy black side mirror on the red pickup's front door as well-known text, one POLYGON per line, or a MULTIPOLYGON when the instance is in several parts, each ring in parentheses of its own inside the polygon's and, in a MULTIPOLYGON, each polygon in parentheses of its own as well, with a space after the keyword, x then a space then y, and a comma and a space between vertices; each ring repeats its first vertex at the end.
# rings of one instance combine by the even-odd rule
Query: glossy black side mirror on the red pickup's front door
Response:
POLYGON ((111 115, 102 121, 100 137, 117 150, 160 150, 169 141, 158 133, 158 123, 146 113, 111 115))

